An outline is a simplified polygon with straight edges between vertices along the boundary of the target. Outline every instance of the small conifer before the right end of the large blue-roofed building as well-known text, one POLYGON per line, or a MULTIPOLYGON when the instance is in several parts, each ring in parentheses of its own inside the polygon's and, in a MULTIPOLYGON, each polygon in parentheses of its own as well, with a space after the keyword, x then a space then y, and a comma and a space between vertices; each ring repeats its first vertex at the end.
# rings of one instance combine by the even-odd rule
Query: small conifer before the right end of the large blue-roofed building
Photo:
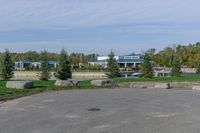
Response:
POLYGON ((141 77, 144 77, 144 78, 152 78, 153 77, 154 71, 153 71, 152 64, 150 61, 151 61, 150 57, 146 53, 144 55, 144 62, 140 65, 140 70, 141 70, 140 76, 141 77))

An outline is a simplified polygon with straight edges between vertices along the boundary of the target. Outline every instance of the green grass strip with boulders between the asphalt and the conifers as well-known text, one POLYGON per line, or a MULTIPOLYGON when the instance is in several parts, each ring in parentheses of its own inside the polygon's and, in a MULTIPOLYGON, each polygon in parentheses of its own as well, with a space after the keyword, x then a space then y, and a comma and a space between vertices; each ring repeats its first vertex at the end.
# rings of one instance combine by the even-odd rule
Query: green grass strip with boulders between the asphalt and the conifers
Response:
MULTIPOLYGON (((116 78, 114 81, 117 84, 123 82, 139 82, 139 81, 158 81, 158 82, 181 82, 181 81, 200 81, 200 76, 191 76, 191 77, 158 77, 152 79, 145 78, 116 78)), ((23 96, 28 96, 32 94, 37 94, 45 91, 58 91, 58 90, 67 90, 67 89, 92 89, 92 88, 102 88, 92 86, 90 81, 81 81, 78 86, 74 88, 66 87, 57 87, 54 85, 55 81, 34 81, 34 88, 32 89, 9 89, 6 88, 6 81, 0 81, 0 101, 10 100, 14 98, 19 98, 23 96)))

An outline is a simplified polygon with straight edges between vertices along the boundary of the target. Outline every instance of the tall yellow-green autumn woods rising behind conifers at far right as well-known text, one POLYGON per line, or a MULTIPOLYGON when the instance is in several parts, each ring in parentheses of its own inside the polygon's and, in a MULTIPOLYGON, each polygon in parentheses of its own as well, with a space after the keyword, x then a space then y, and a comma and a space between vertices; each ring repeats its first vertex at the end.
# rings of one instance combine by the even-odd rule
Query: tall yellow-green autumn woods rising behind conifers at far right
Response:
POLYGON ((200 42, 166 47, 158 53, 149 50, 148 53, 152 55, 152 60, 158 66, 172 67, 173 60, 176 58, 182 66, 197 68, 200 61, 200 42))

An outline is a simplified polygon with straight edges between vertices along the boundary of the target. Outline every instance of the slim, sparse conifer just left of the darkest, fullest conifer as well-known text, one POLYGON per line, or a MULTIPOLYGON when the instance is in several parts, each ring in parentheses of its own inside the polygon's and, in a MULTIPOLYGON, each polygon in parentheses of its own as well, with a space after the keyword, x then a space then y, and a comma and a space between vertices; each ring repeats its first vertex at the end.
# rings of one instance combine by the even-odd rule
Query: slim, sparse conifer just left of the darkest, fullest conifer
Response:
POLYGON ((48 81, 51 78, 49 61, 48 61, 48 53, 47 51, 41 52, 41 68, 40 68, 40 80, 48 81))

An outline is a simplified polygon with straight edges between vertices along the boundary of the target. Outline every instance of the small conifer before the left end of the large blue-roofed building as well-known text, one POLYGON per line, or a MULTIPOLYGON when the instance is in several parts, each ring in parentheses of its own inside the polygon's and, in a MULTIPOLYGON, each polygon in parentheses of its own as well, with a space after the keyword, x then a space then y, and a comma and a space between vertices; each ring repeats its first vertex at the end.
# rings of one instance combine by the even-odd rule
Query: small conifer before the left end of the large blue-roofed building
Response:
POLYGON ((111 52, 109 54, 109 59, 108 59, 108 64, 107 64, 107 72, 106 72, 106 75, 109 78, 116 78, 116 77, 119 77, 119 75, 120 75, 118 64, 116 63, 116 60, 114 57, 115 57, 115 54, 113 52, 111 52))

